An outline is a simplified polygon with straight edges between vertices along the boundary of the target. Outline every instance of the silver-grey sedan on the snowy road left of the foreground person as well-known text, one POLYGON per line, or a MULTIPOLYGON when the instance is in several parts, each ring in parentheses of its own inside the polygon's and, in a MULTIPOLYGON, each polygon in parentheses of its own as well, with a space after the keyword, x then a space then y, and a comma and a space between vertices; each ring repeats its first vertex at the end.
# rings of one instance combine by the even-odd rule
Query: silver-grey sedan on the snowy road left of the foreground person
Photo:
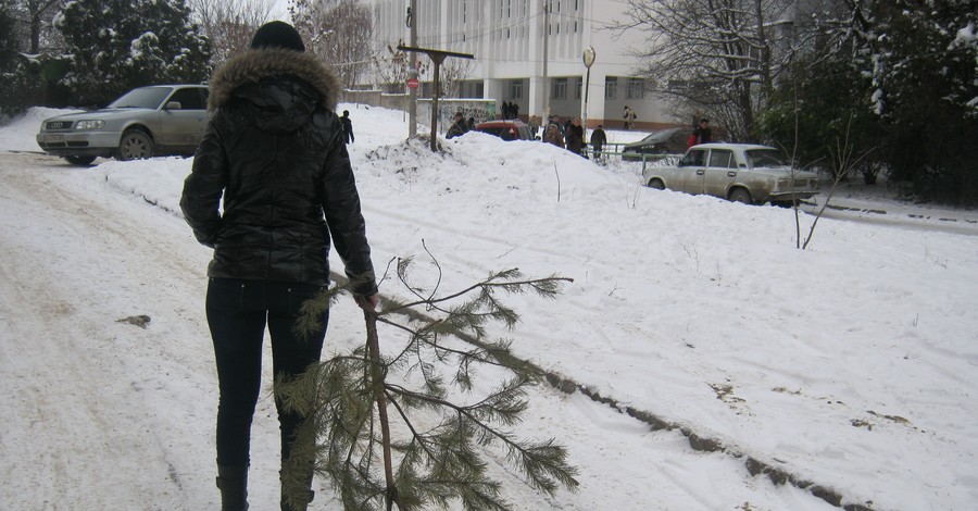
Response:
POLYGON ((206 104, 205 85, 139 87, 102 110, 45 120, 37 145, 78 165, 98 157, 192 154, 208 126, 206 104))

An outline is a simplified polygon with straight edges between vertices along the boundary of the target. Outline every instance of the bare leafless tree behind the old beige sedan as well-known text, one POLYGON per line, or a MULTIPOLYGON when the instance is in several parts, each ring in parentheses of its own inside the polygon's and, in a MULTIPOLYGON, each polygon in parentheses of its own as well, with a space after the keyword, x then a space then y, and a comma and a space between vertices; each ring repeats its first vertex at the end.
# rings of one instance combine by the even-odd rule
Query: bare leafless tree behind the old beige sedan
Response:
POLYGON ((716 117, 732 139, 756 138, 755 114, 799 53, 817 51, 817 23, 836 0, 626 0, 643 29, 638 74, 679 111, 716 117), (800 7, 804 4, 804 9, 800 7))

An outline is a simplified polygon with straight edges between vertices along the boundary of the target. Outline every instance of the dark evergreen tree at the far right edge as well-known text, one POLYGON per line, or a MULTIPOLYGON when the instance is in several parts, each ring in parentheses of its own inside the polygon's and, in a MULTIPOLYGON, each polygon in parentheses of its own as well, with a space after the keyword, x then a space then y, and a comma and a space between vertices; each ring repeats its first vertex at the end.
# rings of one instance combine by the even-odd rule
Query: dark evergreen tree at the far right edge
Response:
POLYGON ((888 126, 890 174, 918 198, 978 203, 978 11, 974 0, 853 2, 856 62, 888 126))

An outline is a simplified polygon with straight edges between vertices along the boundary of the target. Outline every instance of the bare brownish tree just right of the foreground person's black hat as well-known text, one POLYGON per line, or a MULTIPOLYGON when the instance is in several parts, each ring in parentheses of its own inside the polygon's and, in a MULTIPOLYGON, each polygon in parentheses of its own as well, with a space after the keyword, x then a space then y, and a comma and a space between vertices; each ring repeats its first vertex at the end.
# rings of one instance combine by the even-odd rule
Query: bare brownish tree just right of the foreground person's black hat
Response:
POLYGON ((373 63, 371 9, 359 0, 291 0, 289 12, 306 49, 336 66, 344 87, 360 85, 373 63))

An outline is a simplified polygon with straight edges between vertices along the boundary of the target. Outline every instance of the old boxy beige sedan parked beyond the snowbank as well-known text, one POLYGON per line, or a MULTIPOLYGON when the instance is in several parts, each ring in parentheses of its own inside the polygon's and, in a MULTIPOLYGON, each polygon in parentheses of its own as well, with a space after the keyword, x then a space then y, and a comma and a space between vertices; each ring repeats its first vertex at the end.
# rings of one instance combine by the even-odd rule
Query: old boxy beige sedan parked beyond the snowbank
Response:
POLYGON ((818 194, 818 175, 794 169, 773 147, 750 144, 701 144, 676 165, 647 166, 643 183, 652 188, 706 194, 747 204, 792 204, 818 194))

